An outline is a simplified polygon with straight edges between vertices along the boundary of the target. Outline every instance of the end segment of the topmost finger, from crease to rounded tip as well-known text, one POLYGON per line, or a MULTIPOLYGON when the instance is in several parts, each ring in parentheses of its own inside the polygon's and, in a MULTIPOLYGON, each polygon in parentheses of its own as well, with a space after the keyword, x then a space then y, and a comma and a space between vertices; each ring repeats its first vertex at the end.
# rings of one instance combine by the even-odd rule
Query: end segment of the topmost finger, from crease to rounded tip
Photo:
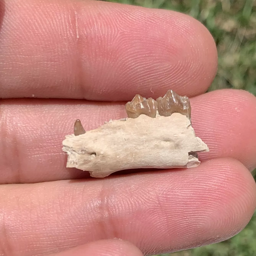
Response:
POLYGON ((113 100, 130 100, 137 93, 157 98, 168 89, 191 97, 205 92, 212 83, 217 72, 216 45, 207 28, 193 17, 117 3, 91 1, 89 5, 89 15, 80 9, 80 36, 87 38, 82 39, 82 58, 89 56, 91 61, 85 61, 86 67, 90 66, 90 75, 84 80, 88 85, 86 99, 110 100, 110 95, 113 100), (105 37, 96 33, 88 37, 85 15, 89 20, 91 15, 89 24, 95 27, 93 17, 98 9, 103 13, 99 22, 108 33, 105 37), (106 45, 104 53, 95 51, 97 41, 106 45), (98 88, 90 87, 96 78, 98 88), (104 94, 99 94, 97 90, 103 89, 104 94))

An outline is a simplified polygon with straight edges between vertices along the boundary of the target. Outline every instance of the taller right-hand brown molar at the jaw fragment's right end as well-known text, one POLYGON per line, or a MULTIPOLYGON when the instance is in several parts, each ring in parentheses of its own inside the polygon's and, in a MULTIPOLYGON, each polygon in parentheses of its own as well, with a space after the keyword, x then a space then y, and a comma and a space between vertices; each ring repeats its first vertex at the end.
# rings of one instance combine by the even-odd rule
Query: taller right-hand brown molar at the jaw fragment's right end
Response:
POLYGON ((158 112, 161 116, 170 116, 172 113, 180 113, 191 120, 191 106, 189 98, 179 96, 177 93, 169 90, 165 96, 157 99, 158 112))

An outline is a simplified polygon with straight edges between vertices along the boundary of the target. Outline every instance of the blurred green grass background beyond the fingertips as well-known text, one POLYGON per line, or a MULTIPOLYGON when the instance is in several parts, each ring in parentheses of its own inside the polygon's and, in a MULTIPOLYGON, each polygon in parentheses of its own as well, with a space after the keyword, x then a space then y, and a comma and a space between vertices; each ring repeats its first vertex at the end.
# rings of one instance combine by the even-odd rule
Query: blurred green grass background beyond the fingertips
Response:
MULTIPOLYGON (((111 0, 187 13, 215 38, 219 69, 209 90, 244 89, 256 95, 255 0, 111 0)), ((233 238, 191 250, 158 256, 256 256, 256 213, 233 238)))

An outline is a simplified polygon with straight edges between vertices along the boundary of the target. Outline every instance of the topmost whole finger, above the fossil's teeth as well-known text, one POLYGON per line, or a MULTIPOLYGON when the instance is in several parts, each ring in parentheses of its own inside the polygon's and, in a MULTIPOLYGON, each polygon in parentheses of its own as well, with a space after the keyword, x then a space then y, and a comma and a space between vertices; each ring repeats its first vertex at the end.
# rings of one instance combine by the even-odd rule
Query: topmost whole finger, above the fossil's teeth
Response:
POLYGON ((213 38, 178 12, 101 1, 8 0, 1 15, 0 98, 120 101, 136 93, 158 97, 170 86, 194 96, 216 73, 213 38))

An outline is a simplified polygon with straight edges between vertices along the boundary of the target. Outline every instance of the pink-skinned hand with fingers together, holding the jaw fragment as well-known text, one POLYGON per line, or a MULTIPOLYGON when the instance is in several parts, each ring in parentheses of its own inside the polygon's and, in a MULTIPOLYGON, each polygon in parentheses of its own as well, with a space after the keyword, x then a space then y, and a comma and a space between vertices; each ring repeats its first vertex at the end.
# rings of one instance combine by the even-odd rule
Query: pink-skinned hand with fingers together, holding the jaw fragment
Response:
POLYGON ((217 51, 195 19, 101 1, 0 0, 0 60, 0 255, 174 252, 228 239, 252 217, 256 98, 203 94, 217 51), (61 142, 76 119, 94 129, 125 117, 135 94, 168 89, 191 97, 195 133, 210 148, 199 167, 106 179, 65 168, 61 142))

